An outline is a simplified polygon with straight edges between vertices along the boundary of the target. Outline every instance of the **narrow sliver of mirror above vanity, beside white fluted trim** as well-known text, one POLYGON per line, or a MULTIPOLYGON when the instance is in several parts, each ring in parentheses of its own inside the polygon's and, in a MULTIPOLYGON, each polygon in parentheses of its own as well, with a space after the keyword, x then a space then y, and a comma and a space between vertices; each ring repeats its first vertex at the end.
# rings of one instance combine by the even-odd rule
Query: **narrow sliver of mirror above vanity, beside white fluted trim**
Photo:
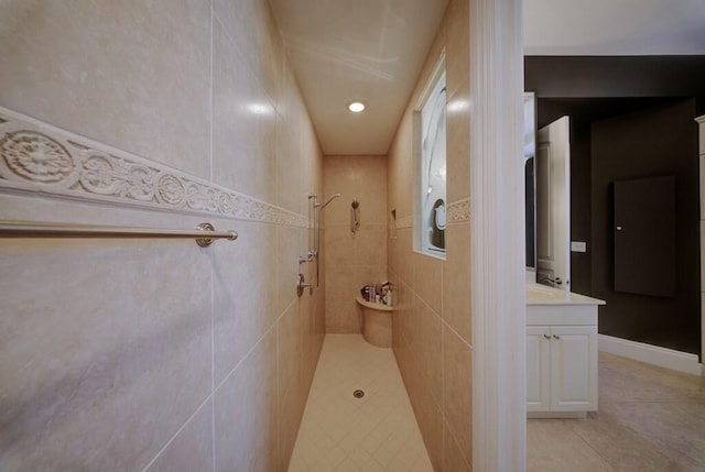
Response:
POLYGON ((527 272, 536 270, 536 176, 534 162, 536 153, 536 96, 524 92, 524 182, 527 222, 527 272))

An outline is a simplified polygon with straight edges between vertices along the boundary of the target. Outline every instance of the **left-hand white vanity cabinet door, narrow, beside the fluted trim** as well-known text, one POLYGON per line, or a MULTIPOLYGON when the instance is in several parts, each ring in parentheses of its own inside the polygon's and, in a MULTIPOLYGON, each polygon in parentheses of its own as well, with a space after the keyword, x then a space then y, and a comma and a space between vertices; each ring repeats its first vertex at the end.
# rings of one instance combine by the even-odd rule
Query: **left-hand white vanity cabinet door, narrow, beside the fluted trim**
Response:
POLYGON ((551 329, 527 327, 527 411, 551 408, 551 329))

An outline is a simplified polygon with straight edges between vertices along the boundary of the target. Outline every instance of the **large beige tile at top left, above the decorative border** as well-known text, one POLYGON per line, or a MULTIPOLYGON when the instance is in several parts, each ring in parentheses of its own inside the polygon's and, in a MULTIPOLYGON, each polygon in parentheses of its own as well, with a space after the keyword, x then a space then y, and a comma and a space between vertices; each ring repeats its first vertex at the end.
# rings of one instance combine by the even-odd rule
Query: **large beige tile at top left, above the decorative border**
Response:
POLYGON ((209 177, 209 2, 12 2, 2 24, 4 107, 209 177))

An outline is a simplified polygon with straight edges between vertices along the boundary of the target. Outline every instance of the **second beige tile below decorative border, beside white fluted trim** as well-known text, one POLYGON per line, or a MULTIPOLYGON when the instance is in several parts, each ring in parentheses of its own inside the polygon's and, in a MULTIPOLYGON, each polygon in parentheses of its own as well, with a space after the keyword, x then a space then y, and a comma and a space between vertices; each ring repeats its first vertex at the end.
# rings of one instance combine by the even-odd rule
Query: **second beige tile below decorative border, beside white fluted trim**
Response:
POLYGON ((473 356, 447 326, 443 332, 443 407, 451 432, 468 462, 473 453, 473 356))

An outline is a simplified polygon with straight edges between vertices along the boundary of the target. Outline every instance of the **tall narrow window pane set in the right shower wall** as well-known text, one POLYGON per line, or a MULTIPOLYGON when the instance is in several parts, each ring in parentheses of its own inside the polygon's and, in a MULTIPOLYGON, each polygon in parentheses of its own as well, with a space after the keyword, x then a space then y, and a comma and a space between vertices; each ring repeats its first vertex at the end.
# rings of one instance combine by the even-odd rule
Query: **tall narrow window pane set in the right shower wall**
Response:
POLYGON ((446 160, 445 70, 421 109, 421 191, 419 240, 423 252, 445 254, 446 160))

